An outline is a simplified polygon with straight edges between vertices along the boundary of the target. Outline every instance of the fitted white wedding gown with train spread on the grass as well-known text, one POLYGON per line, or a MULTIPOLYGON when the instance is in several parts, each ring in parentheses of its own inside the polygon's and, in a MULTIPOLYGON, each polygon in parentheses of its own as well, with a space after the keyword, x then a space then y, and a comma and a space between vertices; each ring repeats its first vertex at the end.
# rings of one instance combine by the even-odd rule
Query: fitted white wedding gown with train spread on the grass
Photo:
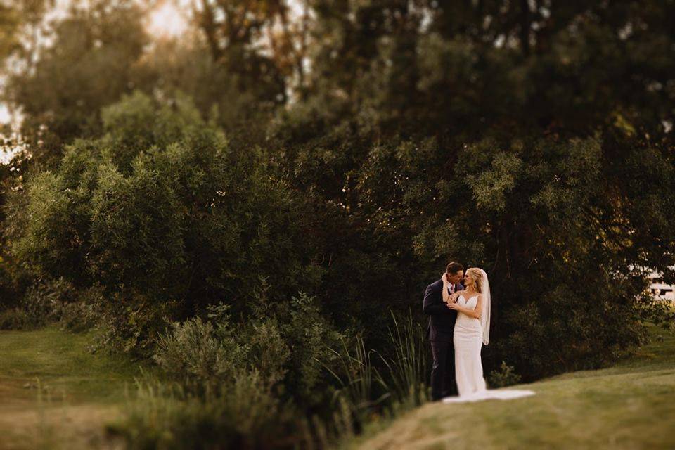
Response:
MULTIPOLYGON (((466 300, 464 295, 457 298, 459 306, 475 309, 478 295, 466 300)), ((457 314, 453 342, 455 346, 455 378, 459 397, 446 397, 444 403, 463 403, 485 399, 515 399, 527 397, 534 392, 528 390, 487 390, 483 378, 480 349, 483 345, 483 327, 479 319, 457 314)))

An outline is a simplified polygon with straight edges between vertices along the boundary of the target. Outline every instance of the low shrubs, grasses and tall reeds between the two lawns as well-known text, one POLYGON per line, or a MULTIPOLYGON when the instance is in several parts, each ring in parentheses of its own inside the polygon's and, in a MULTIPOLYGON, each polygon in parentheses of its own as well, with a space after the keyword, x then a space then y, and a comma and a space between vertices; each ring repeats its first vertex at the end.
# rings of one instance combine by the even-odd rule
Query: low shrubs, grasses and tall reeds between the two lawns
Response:
POLYGON ((227 309, 211 308, 206 321, 174 323, 160 338, 154 359, 169 379, 139 384, 124 420, 113 426, 130 448, 328 446, 349 439, 373 417, 425 401, 423 342, 411 316, 402 325, 394 320, 392 328, 390 345, 404 354, 392 361, 375 358, 386 362, 378 368, 371 363, 378 352, 366 352, 361 338, 356 352, 344 337, 336 351, 330 348, 338 342, 319 346, 311 333, 288 334, 283 318, 235 328, 227 309), (303 347, 314 345, 318 353, 303 372, 321 361, 320 376, 304 388, 314 397, 324 390, 332 397, 312 403, 295 386, 293 370, 310 363, 303 347))

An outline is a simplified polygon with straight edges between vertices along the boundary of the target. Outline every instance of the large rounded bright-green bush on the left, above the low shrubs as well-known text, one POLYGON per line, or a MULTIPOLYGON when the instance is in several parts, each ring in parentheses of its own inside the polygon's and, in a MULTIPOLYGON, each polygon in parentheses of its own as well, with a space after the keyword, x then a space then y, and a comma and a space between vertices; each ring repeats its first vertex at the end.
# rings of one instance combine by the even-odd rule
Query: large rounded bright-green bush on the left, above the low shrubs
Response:
POLYGON ((180 98, 156 105, 136 93, 106 108, 103 123, 101 139, 75 141, 57 169, 30 179, 10 205, 10 238, 36 276, 101 285, 120 338, 108 342, 145 349, 162 317, 223 297, 251 314, 259 276, 274 283, 272 302, 314 290, 321 271, 306 256, 302 205, 262 154, 234 154, 180 98))

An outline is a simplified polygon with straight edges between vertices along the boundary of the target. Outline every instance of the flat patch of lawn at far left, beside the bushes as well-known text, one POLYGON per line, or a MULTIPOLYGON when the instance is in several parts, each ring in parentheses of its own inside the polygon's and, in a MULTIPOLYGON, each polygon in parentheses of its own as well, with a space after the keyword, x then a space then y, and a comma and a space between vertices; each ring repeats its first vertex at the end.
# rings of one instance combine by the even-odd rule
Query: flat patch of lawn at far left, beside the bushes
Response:
POLYGON ((91 335, 0 331, 0 450, 110 449, 103 425, 120 415, 140 369, 91 354, 91 335))

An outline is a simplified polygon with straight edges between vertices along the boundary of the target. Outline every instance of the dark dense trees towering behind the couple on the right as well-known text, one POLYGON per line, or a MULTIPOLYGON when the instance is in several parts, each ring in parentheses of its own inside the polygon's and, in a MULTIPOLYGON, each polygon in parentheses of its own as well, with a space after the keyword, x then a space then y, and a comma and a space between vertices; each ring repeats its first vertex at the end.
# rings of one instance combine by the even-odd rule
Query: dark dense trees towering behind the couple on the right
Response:
MULTIPOLYGON (((322 83, 272 134, 293 185, 375 237, 387 288, 418 307, 448 258, 484 267, 488 356, 528 378, 636 345, 663 312, 645 268, 674 275, 674 4, 317 8, 322 83)), ((333 261, 353 261, 340 238, 333 261)))

